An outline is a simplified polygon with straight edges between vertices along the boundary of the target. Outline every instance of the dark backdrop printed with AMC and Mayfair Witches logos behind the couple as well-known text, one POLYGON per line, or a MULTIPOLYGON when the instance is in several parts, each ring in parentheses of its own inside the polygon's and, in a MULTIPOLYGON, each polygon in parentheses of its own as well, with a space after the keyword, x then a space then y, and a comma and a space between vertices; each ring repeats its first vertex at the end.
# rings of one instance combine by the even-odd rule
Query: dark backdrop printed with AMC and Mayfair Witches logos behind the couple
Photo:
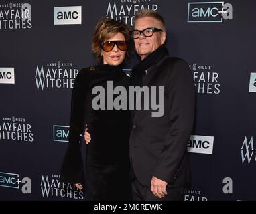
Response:
MULTIPOLYGON (((256 199, 255 1, 1 0, 1 200, 86 200, 59 181, 74 78, 96 64, 97 21, 132 27, 142 7, 164 17, 170 55, 184 58, 194 76, 192 185, 184 200, 256 199)), ((137 62, 134 54, 125 72, 137 62)))

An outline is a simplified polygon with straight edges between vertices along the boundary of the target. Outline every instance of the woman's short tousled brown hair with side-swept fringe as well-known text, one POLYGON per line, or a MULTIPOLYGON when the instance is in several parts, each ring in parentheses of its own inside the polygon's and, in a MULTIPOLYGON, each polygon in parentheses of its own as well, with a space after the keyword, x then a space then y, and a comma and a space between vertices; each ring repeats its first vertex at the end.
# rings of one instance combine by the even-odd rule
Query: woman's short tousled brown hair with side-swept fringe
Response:
POLYGON ((129 56, 131 51, 129 27, 121 21, 102 18, 97 23, 92 37, 92 51, 98 61, 101 61, 101 45, 117 33, 123 33, 125 36, 125 41, 127 41, 128 45, 127 55, 129 56))

